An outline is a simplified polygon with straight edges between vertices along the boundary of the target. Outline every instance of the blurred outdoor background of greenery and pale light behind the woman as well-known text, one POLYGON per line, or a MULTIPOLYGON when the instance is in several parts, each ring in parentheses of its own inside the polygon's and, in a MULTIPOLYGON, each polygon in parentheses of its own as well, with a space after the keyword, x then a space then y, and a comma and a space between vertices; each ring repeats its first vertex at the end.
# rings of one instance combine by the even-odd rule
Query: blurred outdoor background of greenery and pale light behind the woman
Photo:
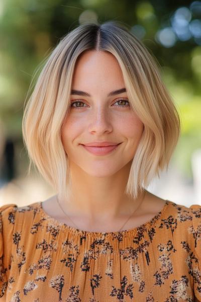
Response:
POLYGON ((108 20, 127 25, 159 61, 181 117, 169 169, 147 189, 201 205, 201 1, 0 0, 0 206, 56 194, 36 171, 27 176, 25 97, 34 71, 62 36, 86 21, 108 20))

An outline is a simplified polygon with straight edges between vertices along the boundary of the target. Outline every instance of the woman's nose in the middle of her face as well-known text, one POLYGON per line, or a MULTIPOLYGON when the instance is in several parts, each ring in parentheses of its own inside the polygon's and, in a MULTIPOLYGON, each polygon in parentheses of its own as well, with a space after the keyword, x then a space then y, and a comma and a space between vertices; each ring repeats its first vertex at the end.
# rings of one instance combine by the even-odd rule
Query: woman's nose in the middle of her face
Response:
POLYGON ((95 132, 100 135, 106 131, 111 132, 112 129, 112 117, 106 108, 99 106, 92 110, 89 117, 89 132, 95 132))

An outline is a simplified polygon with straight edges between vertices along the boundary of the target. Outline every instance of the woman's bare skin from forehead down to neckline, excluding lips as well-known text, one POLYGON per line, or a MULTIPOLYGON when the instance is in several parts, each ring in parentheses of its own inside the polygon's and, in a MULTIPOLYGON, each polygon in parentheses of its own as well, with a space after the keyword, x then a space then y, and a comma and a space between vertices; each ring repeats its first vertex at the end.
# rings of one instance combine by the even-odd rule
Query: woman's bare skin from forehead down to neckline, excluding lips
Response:
MULTIPOLYGON (((80 230, 118 231, 144 194, 133 199, 124 193, 144 124, 131 109, 126 91, 108 96, 123 88, 121 68, 111 53, 90 50, 78 59, 72 90, 90 96, 77 92, 71 95, 71 108, 62 127, 61 139, 70 164, 72 199, 60 200, 60 204, 80 230), (92 141, 121 144, 113 152, 97 156, 81 145, 92 141)), ((143 202, 124 229, 148 221, 164 203, 165 200, 146 191, 143 202)), ((57 220, 75 226, 58 207, 56 196, 44 201, 43 208, 57 220)))

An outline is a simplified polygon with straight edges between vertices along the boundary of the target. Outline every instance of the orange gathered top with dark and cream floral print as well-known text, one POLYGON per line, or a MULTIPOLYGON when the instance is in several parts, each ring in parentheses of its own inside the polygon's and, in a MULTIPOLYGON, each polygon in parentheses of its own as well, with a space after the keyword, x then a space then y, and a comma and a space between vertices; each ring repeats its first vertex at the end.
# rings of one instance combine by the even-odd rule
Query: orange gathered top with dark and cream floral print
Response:
POLYGON ((78 230, 42 202, 0 207, 0 300, 201 301, 201 205, 166 200, 137 228, 78 230))

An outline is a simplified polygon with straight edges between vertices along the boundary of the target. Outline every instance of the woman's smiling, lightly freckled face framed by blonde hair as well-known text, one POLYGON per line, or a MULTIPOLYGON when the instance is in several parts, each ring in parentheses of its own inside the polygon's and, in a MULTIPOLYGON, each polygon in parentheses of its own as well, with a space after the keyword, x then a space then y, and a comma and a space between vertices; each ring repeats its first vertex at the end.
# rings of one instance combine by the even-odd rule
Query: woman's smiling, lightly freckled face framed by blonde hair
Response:
POLYGON ((111 176, 124 168, 132 161, 142 136, 144 125, 129 106, 127 92, 109 95, 123 88, 121 68, 111 53, 90 50, 79 57, 61 138, 70 165, 91 176, 111 176), (83 146, 94 141, 120 144, 108 154, 97 155, 83 146))

